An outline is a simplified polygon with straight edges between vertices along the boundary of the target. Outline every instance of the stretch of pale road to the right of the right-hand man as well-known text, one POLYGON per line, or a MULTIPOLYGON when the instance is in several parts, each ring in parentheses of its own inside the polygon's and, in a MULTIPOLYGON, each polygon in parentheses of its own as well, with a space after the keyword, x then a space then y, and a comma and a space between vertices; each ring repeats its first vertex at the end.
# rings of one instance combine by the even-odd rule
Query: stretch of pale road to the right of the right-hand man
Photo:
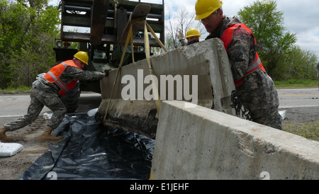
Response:
MULTIPOLYGON (((319 108, 318 89, 279 89, 279 108, 319 108)), ((319 109, 318 109, 319 114, 319 109)))

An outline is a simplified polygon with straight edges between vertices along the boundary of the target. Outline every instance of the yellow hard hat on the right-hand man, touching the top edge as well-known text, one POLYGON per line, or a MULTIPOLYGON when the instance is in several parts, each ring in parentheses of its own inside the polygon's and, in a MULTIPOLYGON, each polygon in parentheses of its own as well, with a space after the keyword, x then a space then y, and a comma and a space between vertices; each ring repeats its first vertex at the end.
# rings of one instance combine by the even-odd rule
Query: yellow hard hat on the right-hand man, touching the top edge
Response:
POLYGON ((197 0, 195 4, 195 20, 198 21, 207 18, 221 6, 223 6, 223 1, 220 0, 197 0))

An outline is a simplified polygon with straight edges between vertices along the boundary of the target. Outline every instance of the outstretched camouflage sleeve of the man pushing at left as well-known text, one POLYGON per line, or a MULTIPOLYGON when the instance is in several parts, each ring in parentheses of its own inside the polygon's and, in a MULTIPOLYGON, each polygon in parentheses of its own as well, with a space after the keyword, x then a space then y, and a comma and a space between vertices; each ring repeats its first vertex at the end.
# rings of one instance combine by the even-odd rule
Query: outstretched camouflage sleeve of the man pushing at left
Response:
POLYGON ((83 71, 77 67, 67 67, 65 74, 70 78, 77 78, 79 80, 96 80, 102 79, 104 76, 101 72, 83 71))

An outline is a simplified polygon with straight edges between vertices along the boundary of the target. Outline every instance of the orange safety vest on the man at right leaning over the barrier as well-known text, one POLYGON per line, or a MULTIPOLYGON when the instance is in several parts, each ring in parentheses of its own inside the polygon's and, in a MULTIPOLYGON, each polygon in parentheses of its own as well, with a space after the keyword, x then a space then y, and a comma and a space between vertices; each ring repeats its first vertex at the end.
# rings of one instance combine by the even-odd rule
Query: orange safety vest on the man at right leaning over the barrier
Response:
MULTIPOLYGON (((237 28, 243 28, 252 34, 252 30, 250 30, 250 28, 247 28, 247 26, 243 23, 237 23, 235 25, 230 25, 230 27, 228 27, 225 30, 222 37, 220 38, 220 40, 222 40, 224 42, 224 47, 225 47, 226 51, 228 51, 228 45, 230 44, 230 42, 233 41, 233 33, 234 33, 234 30, 237 28)), ((254 43, 257 45, 255 38, 254 38, 254 43)), ((246 73, 242 77, 242 79, 240 79, 239 81, 234 81, 236 87, 240 86, 240 84, 242 84, 242 82, 244 82, 245 76, 247 76, 247 75, 251 74, 252 72, 254 72, 255 70, 259 69, 259 67, 262 68, 262 71, 266 72, 266 70, 264 69, 264 66, 262 65, 262 61, 259 59, 257 52, 256 52, 255 59, 256 60, 254 62, 252 62, 252 64, 248 65, 246 73)))

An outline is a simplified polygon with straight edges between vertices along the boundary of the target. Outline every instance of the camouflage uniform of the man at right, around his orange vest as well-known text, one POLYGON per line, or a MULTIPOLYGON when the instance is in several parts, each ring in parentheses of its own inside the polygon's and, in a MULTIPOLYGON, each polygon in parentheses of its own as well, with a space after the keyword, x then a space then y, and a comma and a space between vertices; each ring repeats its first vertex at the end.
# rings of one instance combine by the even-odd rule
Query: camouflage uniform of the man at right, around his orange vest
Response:
MULTIPOLYGON (((241 23, 238 18, 223 16, 219 28, 208 38, 221 38, 228 25, 236 23, 241 23)), ((248 65, 255 61, 256 52, 254 36, 242 28, 235 29, 233 40, 228 45, 228 59, 235 81, 245 75, 248 65)), ((242 105, 250 110, 252 121, 281 130, 278 93, 274 82, 262 69, 245 76, 244 82, 236 87, 236 95, 242 105)))

